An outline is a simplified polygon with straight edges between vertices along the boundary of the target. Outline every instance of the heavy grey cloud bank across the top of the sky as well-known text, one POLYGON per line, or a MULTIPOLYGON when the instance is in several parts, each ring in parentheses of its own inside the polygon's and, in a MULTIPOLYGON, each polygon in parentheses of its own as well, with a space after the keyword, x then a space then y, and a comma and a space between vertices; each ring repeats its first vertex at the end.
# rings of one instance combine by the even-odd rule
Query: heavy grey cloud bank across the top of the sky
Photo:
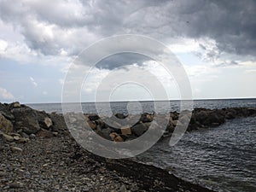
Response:
MULTIPOLYGON (((94 41, 137 33, 168 44, 172 38, 212 38, 218 50, 256 53, 256 1, 0 1, 0 15, 20 29, 26 44, 44 55, 76 55, 94 41), (43 26, 42 26, 43 25, 43 26), (52 25, 52 36, 43 33, 52 25), (68 32, 71 32, 69 34, 68 32)), ((201 44, 202 49, 205 45, 201 44)), ((106 65, 109 68, 111 64, 106 65)))

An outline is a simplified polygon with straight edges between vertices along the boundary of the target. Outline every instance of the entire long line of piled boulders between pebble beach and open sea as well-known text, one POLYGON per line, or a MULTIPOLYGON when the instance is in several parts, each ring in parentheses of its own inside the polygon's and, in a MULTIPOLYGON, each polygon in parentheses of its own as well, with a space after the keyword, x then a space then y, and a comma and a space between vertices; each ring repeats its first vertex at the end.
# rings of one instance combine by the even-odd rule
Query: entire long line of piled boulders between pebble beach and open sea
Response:
MULTIPOLYGON (((185 121, 189 122, 187 131, 193 131, 222 125, 229 119, 250 116, 256 116, 256 108, 195 108, 190 114, 189 112, 171 112, 167 115, 115 113, 108 119, 102 119, 95 113, 86 113, 82 116, 77 113, 68 113, 66 121, 73 125, 78 135, 80 134, 78 127, 83 128, 81 125, 86 122, 90 131, 95 131, 99 136, 113 142, 125 142, 142 136, 154 123, 155 117, 158 119, 158 124, 157 127, 154 126, 154 129, 165 125, 164 128, 161 127, 161 130, 163 130, 163 137, 166 137, 172 135, 176 126, 183 125, 185 121)), ((56 137, 58 135, 69 135, 62 114, 34 110, 19 102, 0 103, 0 136, 7 141, 26 143, 35 137, 56 137)))

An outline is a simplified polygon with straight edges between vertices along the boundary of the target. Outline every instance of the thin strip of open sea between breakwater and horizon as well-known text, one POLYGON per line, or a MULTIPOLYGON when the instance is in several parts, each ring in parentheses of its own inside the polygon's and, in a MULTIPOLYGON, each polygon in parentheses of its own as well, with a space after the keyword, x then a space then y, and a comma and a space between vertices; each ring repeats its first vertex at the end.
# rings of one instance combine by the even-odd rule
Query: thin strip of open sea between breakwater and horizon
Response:
MULTIPOLYGON (((113 113, 127 113, 127 106, 130 106, 131 113, 141 112, 154 112, 154 102, 140 102, 140 105, 132 105, 135 102, 111 102, 110 108, 113 113), (132 108, 131 108, 132 106, 132 108)), ((160 109, 160 113, 168 113, 171 111, 179 111, 180 102, 171 101, 170 106, 166 108, 166 102, 156 102, 158 108, 160 109)), ((44 110, 48 113, 56 112, 62 113, 61 103, 46 103, 46 104, 27 104, 28 106, 38 109, 44 110)), ((102 110, 108 108, 107 102, 98 103, 99 107, 102 110)), ((256 108, 256 99, 224 99, 224 100, 195 100, 194 108, 235 108, 235 107, 252 107, 256 108)), ((84 113, 96 113, 95 103, 93 102, 82 102, 82 109, 84 113)), ((70 103, 69 111, 73 111, 73 104, 70 103)))

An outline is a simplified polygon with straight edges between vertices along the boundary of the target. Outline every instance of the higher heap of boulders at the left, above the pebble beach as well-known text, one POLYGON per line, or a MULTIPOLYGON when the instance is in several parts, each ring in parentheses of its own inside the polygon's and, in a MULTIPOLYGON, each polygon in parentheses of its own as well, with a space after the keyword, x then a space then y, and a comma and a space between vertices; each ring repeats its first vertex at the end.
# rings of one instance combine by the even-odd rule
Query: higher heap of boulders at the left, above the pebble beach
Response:
POLYGON ((15 143, 26 143, 35 137, 57 136, 61 129, 53 124, 51 116, 53 114, 34 110, 19 102, 0 103, 0 136, 15 143))

